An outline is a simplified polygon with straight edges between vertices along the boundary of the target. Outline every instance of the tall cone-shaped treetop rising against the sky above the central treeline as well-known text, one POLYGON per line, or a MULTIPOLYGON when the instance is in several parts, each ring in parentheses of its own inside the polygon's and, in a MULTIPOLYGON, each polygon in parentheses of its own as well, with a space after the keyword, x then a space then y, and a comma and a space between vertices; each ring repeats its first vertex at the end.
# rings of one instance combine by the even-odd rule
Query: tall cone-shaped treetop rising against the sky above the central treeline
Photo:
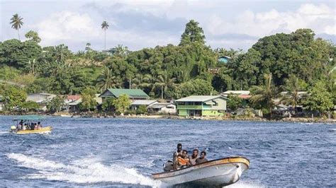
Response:
POLYGON ((189 23, 186 23, 186 29, 181 35, 180 46, 190 45, 191 42, 200 42, 203 45, 206 43, 204 41, 206 37, 204 36, 203 29, 198 24, 195 20, 189 20, 189 23))

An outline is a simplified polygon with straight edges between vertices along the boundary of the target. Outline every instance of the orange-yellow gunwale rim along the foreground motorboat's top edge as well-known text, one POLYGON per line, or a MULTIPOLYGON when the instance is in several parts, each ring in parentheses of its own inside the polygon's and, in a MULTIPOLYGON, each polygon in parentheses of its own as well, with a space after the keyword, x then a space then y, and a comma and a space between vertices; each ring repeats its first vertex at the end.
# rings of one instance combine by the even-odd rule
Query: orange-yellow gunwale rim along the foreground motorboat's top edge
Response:
MULTIPOLYGON (((205 168, 205 167, 211 167, 211 166, 215 166, 215 165, 223 165, 223 164, 229 164, 230 163, 230 159, 237 159, 237 158, 241 158, 241 159, 244 159, 244 160, 247 160, 248 163, 245 163, 243 161, 241 162, 233 162, 233 163, 244 163, 245 165, 247 165, 247 169, 250 168, 250 160, 248 160, 247 158, 243 157, 243 156, 233 156, 233 157, 227 157, 227 158, 218 158, 218 159, 214 159, 214 160, 208 160, 207 162, 205 163, 200 163, 200 164, 197 164, 197 165, 192 165, 190 167, 187 167, 187 168, 181 168, 179 170, 173 170, 173 171, 169 171, 169 172, 158 172, 158 173, 154 173, 152 174, 152 177, 155 178, 155 179, 162 179, 162 178, 167 178, 167 177, 174 177, 174 176, 177 176, 177 175, 169 175, 169 176, 165 176, 165 177, 155 177, 155 176, 159 176, 159 175, 168 175, 169 173, 172 173, 172 172, 179 172, 181 170, 186 170, 186 169, 189 169, 189 168, 194 168, 194 167, 197 167, 197 166, 203 166, 205 165, 204 167, 201 167, 201 168, 205 168), (229 163, 221 163, 221 164, 211 164, 213 162, 216 162, 218 160, 228 160, 229 163)), ((199 168, 198 168, 199 169, 199 168)), ((191 169, 192 170, 192 169, 191 169)), ((181 175, 181 174, 178 174, 178 175, 181 175)))

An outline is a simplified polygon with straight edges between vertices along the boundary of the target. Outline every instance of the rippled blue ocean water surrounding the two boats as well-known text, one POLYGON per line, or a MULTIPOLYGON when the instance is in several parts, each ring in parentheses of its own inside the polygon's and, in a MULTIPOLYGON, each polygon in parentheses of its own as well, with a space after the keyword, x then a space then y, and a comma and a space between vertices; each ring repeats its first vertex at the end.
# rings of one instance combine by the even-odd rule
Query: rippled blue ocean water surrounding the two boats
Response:
POLYGON ((164 187, 177 143, 208 159, 242 155, 230 187, 336 187, 336 124, 47 117, 51 134, 9 133, 0 116, 0 187, 164 187))

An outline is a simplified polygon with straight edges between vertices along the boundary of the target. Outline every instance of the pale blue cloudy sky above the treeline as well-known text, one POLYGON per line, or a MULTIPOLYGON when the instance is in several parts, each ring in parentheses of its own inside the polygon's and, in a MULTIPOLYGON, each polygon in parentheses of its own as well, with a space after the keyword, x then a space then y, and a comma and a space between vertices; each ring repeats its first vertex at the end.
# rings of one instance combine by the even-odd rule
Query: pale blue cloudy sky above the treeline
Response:
POLYGON ((40 45, 69 46, 73 52, 116 45, 130 50, 178 45, 186 23, 194 19, 203 28, 206 44, 213 49, 252 47, 260 37, 291 33, 298 28, 314 30, 316 37, 336 43, 336 1, 77 1, 0 0, 0 39, 18 38, 9 24, 13 14, 23 17, 21 40, 35 30, 40 45))

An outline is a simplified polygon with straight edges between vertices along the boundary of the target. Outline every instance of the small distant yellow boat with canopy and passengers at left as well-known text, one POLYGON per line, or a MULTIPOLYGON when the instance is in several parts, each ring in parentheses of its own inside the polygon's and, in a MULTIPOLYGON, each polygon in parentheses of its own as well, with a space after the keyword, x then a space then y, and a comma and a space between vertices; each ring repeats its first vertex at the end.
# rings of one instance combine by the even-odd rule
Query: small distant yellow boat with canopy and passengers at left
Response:
POLYGON ((16 125, 11 126, 11 132, 15 134, 47 134, 52 130, 51 126, 44 127, 43 124, 38 124, 43 119, 39 115, 23 115, 14 117, 13 122, 16 125))

